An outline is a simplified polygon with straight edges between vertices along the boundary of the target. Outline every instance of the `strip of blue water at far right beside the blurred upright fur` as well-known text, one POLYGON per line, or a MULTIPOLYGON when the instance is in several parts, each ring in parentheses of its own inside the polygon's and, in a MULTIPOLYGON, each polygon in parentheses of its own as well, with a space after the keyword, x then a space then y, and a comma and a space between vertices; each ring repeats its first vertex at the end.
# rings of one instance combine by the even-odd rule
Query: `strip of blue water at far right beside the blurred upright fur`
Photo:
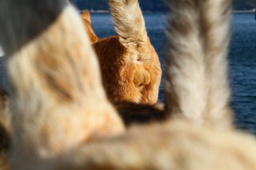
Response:
POLYGON ((256 133, 256 21, 254 14, 234 14, 230 43, 232 106, 238 126, 256 133))

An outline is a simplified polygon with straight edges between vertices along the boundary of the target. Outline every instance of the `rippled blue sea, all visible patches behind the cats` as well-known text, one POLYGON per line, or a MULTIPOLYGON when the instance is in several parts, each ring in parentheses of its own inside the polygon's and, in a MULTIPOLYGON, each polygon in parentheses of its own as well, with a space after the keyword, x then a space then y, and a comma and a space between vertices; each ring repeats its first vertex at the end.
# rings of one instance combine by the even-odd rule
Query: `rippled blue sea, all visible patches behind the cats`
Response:
MULTIPOLYGON (((91 14, 96 34, 106 38, 115 34, 110 14, 91 14)), ((146 13, 146 28, 154 48, 165 67, 166 14, 146 13)), ((256 20, 252 13, 234 14, 230 42, 230 87, 235 124, 238 128, 256 134, 256 20)), ((218 35, 216 35, 218 36, 218 35)), ((1 56, 1 51, 0 51, 1 56)), ((0 85, 5 85, 3 57, 0 57, 0 85)), ((164 81, 162 77, 162 82, 164 81)), ((160 87, 159 101, 164 101, 164 86, 160 87)))

